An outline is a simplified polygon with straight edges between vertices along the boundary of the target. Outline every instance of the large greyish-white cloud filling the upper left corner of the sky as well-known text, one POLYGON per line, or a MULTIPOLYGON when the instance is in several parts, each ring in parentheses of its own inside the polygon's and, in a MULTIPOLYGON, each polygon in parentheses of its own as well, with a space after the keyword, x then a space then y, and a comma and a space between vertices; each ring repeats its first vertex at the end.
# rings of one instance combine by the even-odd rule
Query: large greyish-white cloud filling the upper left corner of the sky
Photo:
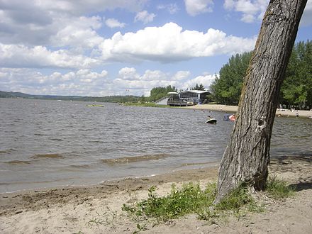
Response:
POLYGON ((6 44, 75 46, 89 48, 101 39, 98 16, 113 9, 138 12, 148 0, 11 0, 0 3, 0 41, 6 44), (84 17, 82 17, 84 16, 84 17), (94 26, 96 24, 97 26, 94 26), (60 45, 57 44, 60 42, 60 45), (71 42, 73 44, 71 44, 71 42))

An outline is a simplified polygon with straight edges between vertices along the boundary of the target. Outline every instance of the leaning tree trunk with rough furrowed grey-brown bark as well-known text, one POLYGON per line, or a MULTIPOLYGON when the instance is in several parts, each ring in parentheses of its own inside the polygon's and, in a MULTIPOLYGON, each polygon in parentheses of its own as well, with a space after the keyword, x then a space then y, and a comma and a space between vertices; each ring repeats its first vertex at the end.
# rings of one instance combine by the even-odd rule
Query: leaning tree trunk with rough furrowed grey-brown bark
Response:
POLYGON ((241 183, 264 188, 279 90, 306 1, 269 1, 221 160, 215 204, 241 183))

